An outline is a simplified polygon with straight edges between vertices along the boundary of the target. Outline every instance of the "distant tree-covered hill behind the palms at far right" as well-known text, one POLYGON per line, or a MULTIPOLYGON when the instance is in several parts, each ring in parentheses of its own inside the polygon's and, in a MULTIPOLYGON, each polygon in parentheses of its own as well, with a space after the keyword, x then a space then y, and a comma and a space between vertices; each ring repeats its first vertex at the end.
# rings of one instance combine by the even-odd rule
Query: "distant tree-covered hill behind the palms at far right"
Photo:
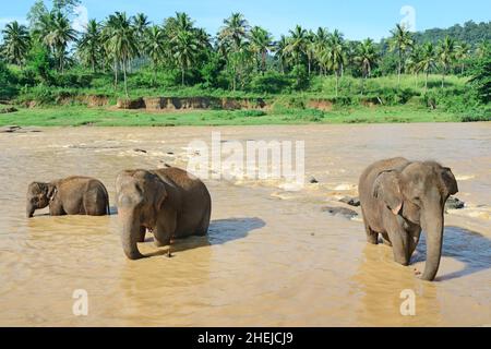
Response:
POLYGON ((466 41, 476 47, 483 40, 491 41, 491 22, 475 23, 474 21, 468 21, 464 26, 455 24, 446 29, 433 28, 418 32, 415 33, 415 38, 419 44, 424 41, 436 43, 447 35, 454 39, 466 41))

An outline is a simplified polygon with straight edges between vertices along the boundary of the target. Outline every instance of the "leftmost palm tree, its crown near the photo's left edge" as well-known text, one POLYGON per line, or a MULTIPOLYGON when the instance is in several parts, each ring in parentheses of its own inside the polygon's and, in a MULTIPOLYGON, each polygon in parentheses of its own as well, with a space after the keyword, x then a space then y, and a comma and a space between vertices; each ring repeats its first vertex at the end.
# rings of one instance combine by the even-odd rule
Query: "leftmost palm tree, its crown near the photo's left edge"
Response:
POLYGON ((14 21, 7 24, 2 33, 5 58, 14 64, 22 65, 31 44, 27 27, 14 21))

